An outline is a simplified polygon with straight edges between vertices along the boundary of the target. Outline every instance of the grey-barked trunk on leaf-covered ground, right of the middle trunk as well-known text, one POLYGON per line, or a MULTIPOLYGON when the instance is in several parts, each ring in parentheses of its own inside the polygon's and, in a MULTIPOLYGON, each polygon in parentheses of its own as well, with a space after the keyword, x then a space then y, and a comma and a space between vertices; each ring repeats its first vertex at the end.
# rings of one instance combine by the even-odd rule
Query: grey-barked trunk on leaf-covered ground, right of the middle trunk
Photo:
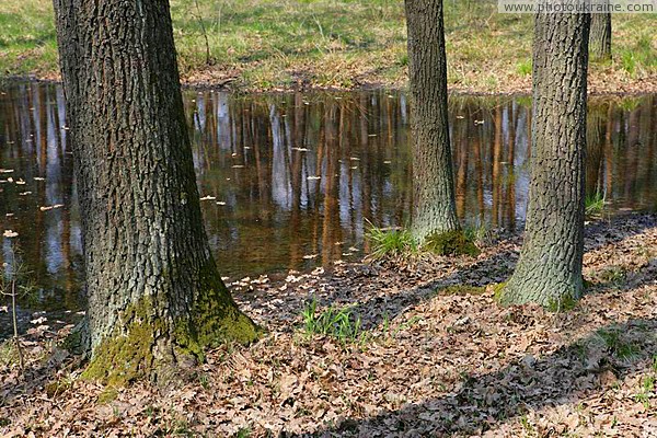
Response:
POLYGON ((531 183, 525 242, 505 304, 563 309, 584 290, 584 159, 589 14, 537 14, 531 183))

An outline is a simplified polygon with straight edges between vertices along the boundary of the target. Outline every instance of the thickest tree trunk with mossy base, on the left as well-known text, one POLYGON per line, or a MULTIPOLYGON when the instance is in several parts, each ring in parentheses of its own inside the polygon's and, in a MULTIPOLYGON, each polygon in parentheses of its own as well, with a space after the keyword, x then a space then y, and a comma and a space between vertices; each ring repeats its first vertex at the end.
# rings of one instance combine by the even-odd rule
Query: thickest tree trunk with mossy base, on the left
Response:
POLYGON ((223 339, 250 342, 210 254, 166 0, 55 0, 82 211, 91 364, 161 377, 223 339))

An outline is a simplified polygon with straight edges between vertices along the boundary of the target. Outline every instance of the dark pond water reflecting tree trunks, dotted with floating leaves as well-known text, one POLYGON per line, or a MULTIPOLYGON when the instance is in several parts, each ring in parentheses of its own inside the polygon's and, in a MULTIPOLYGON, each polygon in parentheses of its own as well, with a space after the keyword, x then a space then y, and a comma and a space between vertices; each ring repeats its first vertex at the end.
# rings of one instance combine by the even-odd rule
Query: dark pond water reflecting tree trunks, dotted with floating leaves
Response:
MULTIPOLYGON (((228 283, 359 258, 369 222, 407 222, 404 93, 205 92, 185 101, 201 197, 211 197, 203 203, 206 228, 228 283)), ((459 96, 450 107, 459 216, 473 227, 518 229, 527 206, 530 100, 459 96)), ((657 208, 657 96, 595 100, 589 127, 587 192, 603 193, 613 211, 657 208)), ((18 237, 0 238, 0 263, 10 272, 21 265, 32 280, 20 300, 24 326, 42 310, 50 321, 70 320, 83 302, 66 136, 60 88, 2 90, 0 232, 18 237)), ((0 335, 8 327, 0 309, 0 335)))

